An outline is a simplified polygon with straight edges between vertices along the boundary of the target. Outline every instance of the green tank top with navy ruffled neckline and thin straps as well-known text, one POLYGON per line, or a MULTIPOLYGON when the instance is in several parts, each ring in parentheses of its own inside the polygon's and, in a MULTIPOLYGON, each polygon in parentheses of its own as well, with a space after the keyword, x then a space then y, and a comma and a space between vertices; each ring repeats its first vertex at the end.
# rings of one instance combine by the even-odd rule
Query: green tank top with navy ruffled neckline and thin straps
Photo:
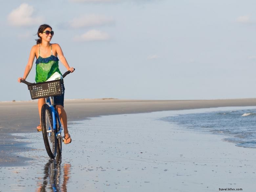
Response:
POLYGON ((53 55, 52 45, 51 45, 51 56, 43 58, 40 56, 40 44, 39 44, 39 56, 35 61, 36 63, 36 74, 35 74, 35 82, 45 82, 49 77, 51 77, 55 72, 59 70, 59 59, 53 55))

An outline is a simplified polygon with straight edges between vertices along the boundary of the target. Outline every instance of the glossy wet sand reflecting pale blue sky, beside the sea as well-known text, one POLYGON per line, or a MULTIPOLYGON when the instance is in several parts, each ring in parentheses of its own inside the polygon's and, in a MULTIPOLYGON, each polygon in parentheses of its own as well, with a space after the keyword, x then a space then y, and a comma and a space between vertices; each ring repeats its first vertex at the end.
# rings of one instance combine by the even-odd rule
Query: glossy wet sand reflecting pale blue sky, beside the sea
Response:
POLYGON ((0 191, 254 191, 255 149, 159 120, 187 112, 191 110, 72 121, 72 143, 63 146, 56 160, 47 157, 41 133, 26 134, 16 140, 27 143, 27 150, 15 155, 30 160, 27 166, 0 167, 0 191))

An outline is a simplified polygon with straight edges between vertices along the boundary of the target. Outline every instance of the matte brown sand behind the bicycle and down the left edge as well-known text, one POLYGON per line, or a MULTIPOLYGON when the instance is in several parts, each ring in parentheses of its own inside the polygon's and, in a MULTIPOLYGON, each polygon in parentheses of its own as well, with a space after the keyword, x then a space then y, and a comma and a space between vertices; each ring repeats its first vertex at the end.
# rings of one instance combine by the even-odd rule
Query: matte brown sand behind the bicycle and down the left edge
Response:
MULTIPOLYGON (((68 121, 83 120, 116 114, 148 113, 155 111, 198 109, 225 106, 254 106, 256 98, 217 100, 65 100, 68 121)), ((15 153, 28 150, 21 137, 13 133, 36 132, 39 123, 37 101, 0 102, 0 167, 22 165, 28 160, 15 153)))

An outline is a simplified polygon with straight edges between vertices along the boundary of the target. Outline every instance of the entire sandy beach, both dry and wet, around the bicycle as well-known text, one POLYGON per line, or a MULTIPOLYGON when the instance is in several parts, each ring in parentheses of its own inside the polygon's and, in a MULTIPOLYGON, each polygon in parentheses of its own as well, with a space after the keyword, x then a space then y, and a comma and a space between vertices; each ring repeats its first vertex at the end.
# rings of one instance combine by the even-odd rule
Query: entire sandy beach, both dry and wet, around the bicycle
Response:
POLYGON ((62 191, 253 191, 254 148, 159 119, 255 103, 254 98, 66 100, 73 140, 63 146, 61 158, 49 160, 35 129, 37 102, 0 102, 0 191, 51 191, 49 175, 58 174, 62 191))

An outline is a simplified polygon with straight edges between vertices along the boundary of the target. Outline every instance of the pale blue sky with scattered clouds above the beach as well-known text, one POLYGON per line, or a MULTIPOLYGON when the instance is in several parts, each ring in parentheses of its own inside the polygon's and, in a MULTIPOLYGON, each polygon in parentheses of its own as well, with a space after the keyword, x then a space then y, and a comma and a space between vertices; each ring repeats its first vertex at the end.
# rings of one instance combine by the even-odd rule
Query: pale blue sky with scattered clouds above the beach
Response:
MULTIPOLYGON (((0 101, 31 99, 17 78, 44 23, 75 68, 64 79, 66 99, 254 98, 255 7, 253 0, 1 0, 0 101)), ((35 60, 27 81, 34 77, 35 60)))

